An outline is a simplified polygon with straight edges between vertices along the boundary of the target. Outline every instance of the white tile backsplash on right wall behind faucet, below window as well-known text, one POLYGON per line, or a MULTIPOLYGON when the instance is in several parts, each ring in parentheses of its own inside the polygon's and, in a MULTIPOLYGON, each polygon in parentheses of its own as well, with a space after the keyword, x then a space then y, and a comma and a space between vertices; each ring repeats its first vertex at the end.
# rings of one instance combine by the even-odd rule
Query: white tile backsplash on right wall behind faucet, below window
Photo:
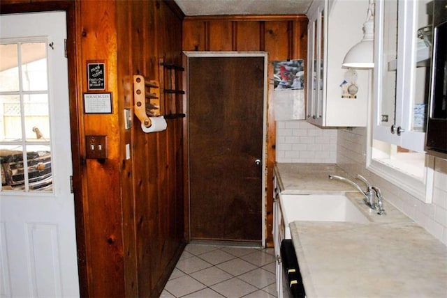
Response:
POLYGON ((447 245, 447 160, 435 159, 432 203, 425 204, 405 189, 367 171, 365 166, 367 130, 357 127, 339 129, 337 134, 337 164, 351 175, 360 173, 382 191, 386 201, 411 217, 430 234, 447 245))

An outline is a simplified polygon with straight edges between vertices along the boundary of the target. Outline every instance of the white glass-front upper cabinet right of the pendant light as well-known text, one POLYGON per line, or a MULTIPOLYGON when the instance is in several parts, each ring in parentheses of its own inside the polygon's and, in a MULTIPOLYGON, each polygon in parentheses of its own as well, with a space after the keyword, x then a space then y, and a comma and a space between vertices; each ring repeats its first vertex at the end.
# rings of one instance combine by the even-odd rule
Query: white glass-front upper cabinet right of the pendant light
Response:
POLYGON ((425 142, 431 1, 376 0, 373 139, 416 152, 425 142))

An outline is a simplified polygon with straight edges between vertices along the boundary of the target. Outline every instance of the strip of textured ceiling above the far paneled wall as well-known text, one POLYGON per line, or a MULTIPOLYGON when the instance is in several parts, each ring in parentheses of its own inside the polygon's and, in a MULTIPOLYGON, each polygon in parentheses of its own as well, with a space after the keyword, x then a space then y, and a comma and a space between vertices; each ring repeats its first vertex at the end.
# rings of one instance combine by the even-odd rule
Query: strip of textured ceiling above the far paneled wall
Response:
POLYGON ((183 13, 192 15, 299 15, 312 0, 175 0, 183 13))

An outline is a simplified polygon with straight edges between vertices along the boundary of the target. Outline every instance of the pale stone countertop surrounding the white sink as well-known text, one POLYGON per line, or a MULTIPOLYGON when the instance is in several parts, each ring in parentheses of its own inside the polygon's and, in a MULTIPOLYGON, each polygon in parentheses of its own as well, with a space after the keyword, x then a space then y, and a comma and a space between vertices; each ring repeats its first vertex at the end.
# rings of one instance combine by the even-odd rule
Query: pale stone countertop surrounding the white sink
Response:
POLYGON ((275 166, 281 194, 348 191, 371 220, 289 225, 307 297, 447 297, 447 246, 386 200, 386 216, 369 210, 358 191, 329 180, 328 171, 349 177, 334 164, 275 166))

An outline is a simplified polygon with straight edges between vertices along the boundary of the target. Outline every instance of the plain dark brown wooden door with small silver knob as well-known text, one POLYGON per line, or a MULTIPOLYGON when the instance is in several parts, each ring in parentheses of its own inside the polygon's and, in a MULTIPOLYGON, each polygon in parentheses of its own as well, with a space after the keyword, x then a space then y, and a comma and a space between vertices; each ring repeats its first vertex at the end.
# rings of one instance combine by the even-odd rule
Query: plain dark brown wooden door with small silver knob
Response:
POLYGON ((189 58, 192 240, 262 240, 264 57, 189 58))

